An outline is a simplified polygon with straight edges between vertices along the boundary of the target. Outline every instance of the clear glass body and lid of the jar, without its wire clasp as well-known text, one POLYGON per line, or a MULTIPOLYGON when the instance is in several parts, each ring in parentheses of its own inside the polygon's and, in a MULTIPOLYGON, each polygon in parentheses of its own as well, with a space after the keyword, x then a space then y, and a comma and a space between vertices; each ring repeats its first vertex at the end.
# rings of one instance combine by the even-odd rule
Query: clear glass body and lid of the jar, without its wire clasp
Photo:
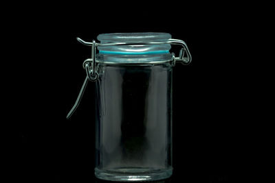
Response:
MULTIPOLYGON (((116 36, 118 34, 101 34, 98 39, 101 42, 124 39, 125 42, 138 37, 135 42, 159 41, 168 39, 170 34, 120 34, 121 40, 116 36), (153 37, 146 40, 150 35, 153 37)), ((172 175, 173 67, 170 62, 151 63, 170 58, 166 51, 169 46, 100 49, 103 52, 98 54, 96 81, 97 178, 144 181, 172 175), (125 53, 127 51, 129 53, 125 53), (133 53, 135 51, 138 53, 133 53)))

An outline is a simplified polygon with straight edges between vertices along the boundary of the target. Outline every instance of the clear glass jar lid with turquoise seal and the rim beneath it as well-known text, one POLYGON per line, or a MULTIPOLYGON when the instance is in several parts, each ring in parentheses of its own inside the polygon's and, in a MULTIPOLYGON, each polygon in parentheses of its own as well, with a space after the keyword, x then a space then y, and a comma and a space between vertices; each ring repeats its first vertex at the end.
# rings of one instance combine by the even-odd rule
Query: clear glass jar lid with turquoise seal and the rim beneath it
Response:
POLYGON ((170 38, 170 34, 162 32, 99 34, 100 44, 123 42, 126 45, 104 47, 98 45, 97 58, 99 62, 118 63, 147 63, 168 60, 170 58, 170 44, 144 45, 142 42, 166 42, 170 38))

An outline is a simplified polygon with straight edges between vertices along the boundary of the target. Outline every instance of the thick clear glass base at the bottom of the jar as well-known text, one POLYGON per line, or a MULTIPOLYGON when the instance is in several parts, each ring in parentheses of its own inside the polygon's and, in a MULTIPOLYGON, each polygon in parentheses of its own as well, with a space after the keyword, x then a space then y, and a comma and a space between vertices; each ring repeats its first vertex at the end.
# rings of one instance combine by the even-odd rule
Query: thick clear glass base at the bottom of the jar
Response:
POLYGON ((153 181, 170 178, 173 168, 149 169, 149 168, 117 168, 95 169, 96 178, 110 181, 153 181))

